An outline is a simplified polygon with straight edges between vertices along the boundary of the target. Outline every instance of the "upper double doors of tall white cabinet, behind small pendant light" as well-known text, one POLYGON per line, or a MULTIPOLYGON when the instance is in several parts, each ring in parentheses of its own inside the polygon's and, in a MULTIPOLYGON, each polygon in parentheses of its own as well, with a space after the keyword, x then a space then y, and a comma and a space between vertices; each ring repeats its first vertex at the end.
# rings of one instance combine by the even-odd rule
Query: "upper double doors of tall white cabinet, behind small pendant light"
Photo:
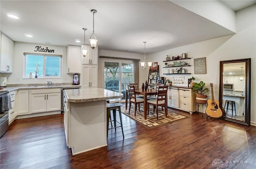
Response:
MULTIPOLYGON (((81 51, 84 45, 81 45, 81 51)), ((88 50, 86 57, 82 54, 82 64, 98 65, 98 46, 96 49, 92 49, 90 45, 86 45, 88 50)), ((81 52, 82 53, 82 52, 81 52)))

